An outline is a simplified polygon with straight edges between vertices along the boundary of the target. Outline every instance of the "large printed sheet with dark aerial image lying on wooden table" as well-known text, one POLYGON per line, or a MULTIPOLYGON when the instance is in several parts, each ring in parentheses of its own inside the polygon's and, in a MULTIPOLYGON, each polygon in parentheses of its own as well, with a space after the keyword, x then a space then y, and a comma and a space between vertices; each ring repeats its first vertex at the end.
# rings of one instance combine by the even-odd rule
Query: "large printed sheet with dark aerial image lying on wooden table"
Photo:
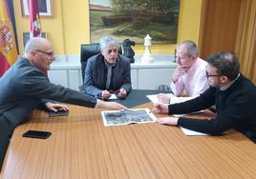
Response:
POLYGON ((124 109, 101 111, 104 126, 152 123, 157 118, 149 109, 124 109))

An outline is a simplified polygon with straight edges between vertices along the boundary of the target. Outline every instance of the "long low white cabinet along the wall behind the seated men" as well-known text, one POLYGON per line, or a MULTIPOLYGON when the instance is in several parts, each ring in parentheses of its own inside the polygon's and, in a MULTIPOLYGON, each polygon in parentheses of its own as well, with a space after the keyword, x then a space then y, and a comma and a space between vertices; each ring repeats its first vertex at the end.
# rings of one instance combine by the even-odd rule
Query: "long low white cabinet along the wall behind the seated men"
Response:
MULTIPOLYGON (((82 85, 82 75, 78 58, 77 56, 75 59, 53 62, 51 70, 48 72, 50 81, 70 89, 79 90, 82 85)), ((152 64, 142 64, 136 60, 131 65, 133 89, 158 89, 160 85, 170 85, 170 79, 177 64, 170 60, 170 56, 164 59, 154 57, 154 59, 152 64)))

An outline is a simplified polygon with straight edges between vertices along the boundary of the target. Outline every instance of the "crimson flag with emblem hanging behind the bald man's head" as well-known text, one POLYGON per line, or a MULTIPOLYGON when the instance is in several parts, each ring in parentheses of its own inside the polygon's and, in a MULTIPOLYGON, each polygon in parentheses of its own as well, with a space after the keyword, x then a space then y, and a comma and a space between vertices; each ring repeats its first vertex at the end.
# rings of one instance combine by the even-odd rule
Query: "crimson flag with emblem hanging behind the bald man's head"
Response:
POLYGON ((39 10, 37 0, 29 0, 31 38, 41 36, 41 24, 39 21, 39 10))

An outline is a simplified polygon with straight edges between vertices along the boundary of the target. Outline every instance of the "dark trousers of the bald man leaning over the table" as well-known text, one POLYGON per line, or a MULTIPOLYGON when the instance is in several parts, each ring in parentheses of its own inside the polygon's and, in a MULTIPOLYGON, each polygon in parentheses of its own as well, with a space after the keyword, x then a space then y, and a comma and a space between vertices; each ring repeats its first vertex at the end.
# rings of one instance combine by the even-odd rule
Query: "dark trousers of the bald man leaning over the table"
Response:
POLYGON ((0 115, 0 170, 9 146, 12 130, 8 120, 3 115, 0 115))

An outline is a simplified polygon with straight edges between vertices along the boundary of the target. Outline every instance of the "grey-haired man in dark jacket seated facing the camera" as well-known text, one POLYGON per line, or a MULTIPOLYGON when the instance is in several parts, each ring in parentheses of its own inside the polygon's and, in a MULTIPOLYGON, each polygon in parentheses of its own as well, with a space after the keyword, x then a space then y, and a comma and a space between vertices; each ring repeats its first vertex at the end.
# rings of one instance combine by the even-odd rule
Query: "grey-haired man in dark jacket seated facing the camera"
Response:
POLYGON ((132 89, 130 60, 117 53, 117 41, 111 36, 100 39, 100 53, 88 59, 84 91, 108 99, 113 92, 125 97, 132 89))

